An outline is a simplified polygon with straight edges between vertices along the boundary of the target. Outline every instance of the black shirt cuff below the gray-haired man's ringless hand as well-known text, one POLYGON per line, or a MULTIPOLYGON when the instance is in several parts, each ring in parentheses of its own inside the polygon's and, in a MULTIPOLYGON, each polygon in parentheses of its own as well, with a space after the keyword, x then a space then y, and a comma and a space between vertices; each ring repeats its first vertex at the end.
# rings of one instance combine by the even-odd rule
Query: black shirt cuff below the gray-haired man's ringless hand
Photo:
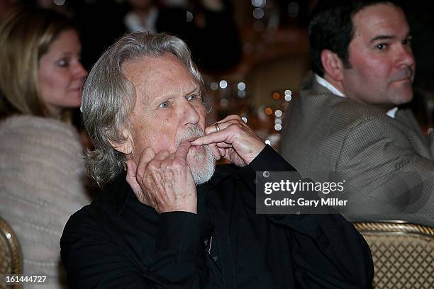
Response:
POLYGON ((201 248, 199 216, 192 212, 163 212, 158 224, 156 251, 196 253, 201 248))

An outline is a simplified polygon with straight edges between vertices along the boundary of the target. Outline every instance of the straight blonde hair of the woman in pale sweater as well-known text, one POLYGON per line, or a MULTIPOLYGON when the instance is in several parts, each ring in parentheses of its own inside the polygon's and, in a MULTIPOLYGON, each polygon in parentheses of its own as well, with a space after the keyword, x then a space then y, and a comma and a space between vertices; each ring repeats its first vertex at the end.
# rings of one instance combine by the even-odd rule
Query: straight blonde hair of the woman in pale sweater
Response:
POLYGON ((38 64, 57 36, 69 29, 75 29, 69 18, 48 9, 16 6, 6 14, 0 26, 0 118, 50 116, 38 96, 38 64))

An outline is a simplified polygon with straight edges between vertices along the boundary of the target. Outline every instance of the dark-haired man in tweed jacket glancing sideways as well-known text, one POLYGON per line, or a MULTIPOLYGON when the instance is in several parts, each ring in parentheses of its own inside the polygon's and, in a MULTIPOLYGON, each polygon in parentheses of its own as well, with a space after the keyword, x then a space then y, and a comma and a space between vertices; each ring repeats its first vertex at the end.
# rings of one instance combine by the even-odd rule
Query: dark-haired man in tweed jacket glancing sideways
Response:
POLYGON ((315 181, 341 174, 350 220, 434 226, 433 135, 402 107, 415 71, 404 12, 387 1, 320 1, 309 34, 313 73, 286 113, 282 155, 315 181))

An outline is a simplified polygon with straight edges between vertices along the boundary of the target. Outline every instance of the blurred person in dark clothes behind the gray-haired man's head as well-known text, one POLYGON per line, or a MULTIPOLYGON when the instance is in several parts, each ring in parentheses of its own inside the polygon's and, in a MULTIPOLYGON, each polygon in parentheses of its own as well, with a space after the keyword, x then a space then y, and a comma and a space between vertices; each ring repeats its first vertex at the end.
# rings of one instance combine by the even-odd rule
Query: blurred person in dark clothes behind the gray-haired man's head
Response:
POLYGON ((166 32, 189 45, 205 72, 226 72, 241 57, 238 30, 227 0, 127 0, 121 5, 95 1, 77 9, 82 26, 83 60, 90 68, 119 36, 127 32, 166 32))

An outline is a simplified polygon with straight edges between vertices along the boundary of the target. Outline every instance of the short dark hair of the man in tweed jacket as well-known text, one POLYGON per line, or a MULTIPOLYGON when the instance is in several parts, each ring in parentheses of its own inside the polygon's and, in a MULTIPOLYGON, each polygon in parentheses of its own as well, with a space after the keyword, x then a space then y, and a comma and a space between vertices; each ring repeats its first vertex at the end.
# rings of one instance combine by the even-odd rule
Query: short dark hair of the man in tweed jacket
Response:
POLYGON ((348 46, 354 36, 352 19, 355 14, 367 6, 390 4, 400 7, 396 1, 385 0, 320 0, 313 8, 309 21, 309 45, 312 70, 323 77, 321 51, 335 52, 345 67, 348 62, 348 46))

